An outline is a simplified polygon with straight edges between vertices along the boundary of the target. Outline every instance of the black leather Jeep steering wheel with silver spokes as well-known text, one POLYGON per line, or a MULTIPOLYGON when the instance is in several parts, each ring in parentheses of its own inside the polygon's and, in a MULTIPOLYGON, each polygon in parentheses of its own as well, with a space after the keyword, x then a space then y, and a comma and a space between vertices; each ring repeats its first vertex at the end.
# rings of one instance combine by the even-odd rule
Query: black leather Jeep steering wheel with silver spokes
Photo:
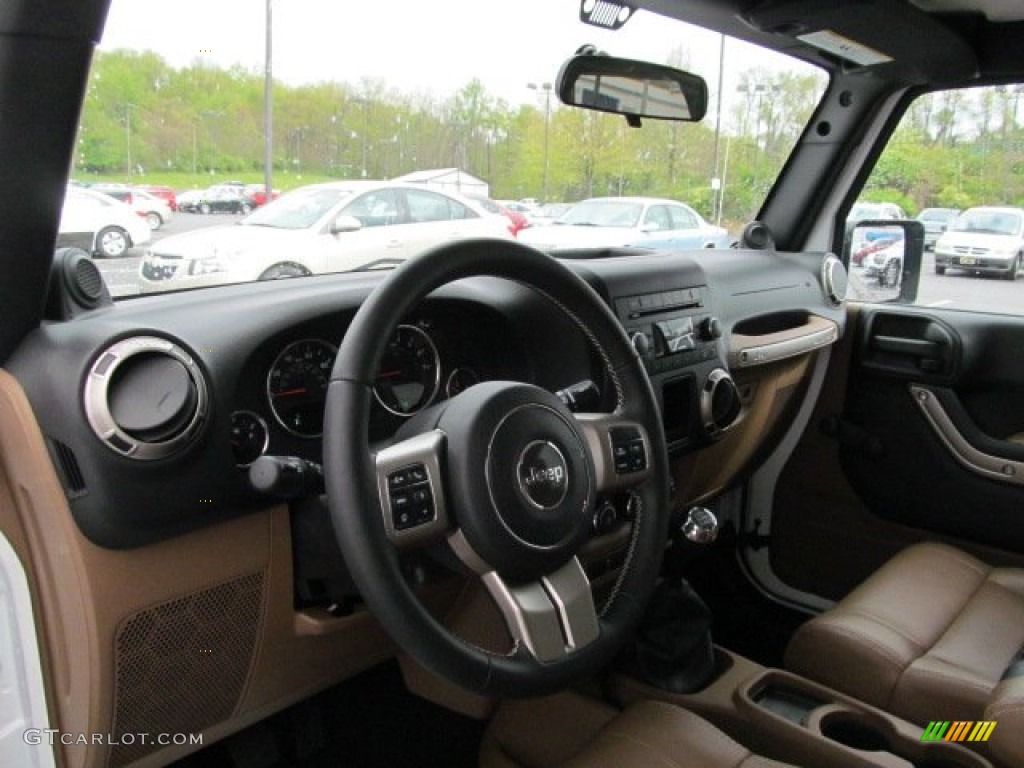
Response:
MULTIPOLYGON (((557 338, 551 339, 557 354, 557 338)), ((639 622, 668 529, 668 453, 643 366, 598 294, 514 241, 442 245, 403 262, 362 303, 327 397, 324 464, 334 529, 362 599, 441 677, 485 694, 534 695, 607 664, 639 622), (541 293, 589 338, 615 390, 610 414, 573 414, 540 387, 483 382, 410 419, 372 450, 374 381, 389 332, 431 291, 474 275, 541 293), (598 606, 577 553, 598 493, 639 503, 625 564, 598 606), (463 641, 417 599, 399 550, 445 543, 482 580, 514 640, 463 641)))

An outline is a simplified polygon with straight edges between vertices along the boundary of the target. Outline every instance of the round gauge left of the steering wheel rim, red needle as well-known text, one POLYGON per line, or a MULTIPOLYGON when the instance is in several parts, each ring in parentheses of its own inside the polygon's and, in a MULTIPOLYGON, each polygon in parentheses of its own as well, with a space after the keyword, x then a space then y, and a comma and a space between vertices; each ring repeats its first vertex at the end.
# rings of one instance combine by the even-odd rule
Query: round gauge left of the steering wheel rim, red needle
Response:
POLYGON ((300 437, 324 431, 327 386, 338 348, 319 339, 289 344, 266 378, 270 411, 285 429, 300 437))

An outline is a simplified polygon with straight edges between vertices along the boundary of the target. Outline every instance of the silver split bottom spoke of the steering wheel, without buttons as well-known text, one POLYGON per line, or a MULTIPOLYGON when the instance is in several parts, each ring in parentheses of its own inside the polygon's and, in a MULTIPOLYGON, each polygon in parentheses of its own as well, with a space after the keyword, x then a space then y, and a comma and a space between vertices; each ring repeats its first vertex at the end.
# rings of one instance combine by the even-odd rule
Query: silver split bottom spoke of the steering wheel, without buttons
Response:
POLYGON ((558 660, 599 635, 590 581, 574 557, 535 582, 512 585, 494 570, 482 580, 512 637, 538 662, 558 660))

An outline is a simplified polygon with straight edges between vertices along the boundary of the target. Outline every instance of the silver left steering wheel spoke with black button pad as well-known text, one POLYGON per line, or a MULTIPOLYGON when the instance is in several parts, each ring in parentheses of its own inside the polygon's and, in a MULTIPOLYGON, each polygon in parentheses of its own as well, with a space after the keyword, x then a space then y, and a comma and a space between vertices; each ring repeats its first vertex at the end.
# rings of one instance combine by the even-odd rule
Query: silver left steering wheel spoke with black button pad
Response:
POLYGON ((444 434, 432 430, 375 455, 384 529, 396 547, 443 538, 451 527, 441 482, 444 434))

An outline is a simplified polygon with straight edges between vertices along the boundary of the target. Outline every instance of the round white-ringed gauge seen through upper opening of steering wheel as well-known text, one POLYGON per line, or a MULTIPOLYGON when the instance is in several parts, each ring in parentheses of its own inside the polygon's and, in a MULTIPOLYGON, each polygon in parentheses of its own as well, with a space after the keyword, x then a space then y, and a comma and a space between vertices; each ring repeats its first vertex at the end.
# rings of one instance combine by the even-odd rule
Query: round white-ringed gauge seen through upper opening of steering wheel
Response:
POLYGON ((412 416, 434 399, 440 375, 440 356, 426 332, 398 326, 384 350, 374 394, 392 414, 412 416))

